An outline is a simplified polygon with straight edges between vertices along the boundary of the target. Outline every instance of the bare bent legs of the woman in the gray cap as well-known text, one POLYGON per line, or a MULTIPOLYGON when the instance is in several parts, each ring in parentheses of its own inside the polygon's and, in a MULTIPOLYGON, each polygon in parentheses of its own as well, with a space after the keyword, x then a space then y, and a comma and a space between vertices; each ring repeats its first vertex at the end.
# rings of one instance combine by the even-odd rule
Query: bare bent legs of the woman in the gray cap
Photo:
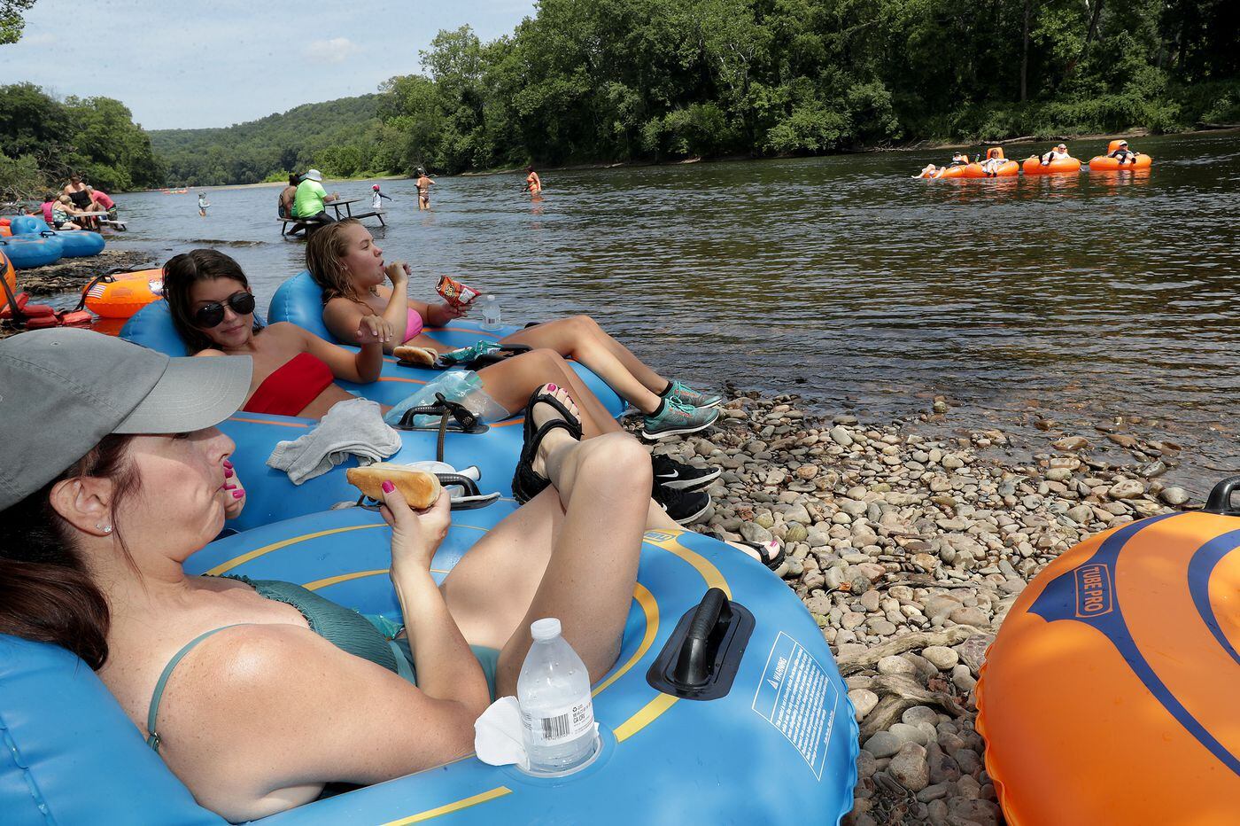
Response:
POLYGON ((651 484, 645 449, 624 434, 577 443, 553 430, 539 458, 553 486, 492 528, 441 587, 465 637, 501 649, 500 695, 515 693, 529 623, 542 616, 560 620, 591 681, 606 673, 637 577, 651 484))

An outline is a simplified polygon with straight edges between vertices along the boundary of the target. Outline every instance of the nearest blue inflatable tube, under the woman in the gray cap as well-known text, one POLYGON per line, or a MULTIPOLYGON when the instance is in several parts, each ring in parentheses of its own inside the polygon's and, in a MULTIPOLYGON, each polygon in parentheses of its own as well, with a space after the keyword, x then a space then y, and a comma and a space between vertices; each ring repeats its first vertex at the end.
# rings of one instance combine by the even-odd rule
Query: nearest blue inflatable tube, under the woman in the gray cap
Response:
MULTIPOLYGON (((510 510, 455 513, 436 578, 510 510)), ((215 542, 186 568, 288 579, 397 619, 389 554, 379 516, 350 508, 215 542)), ((552 780, 466 758, 258 822, 838 824, 853 806, 857 724, 796 595, 692 532, 647 533, 637 579, 616 666, 595 686, 603 750, 588 768, 552 780), (717 699, 665 693, 647 671, 709 587, 754 616, 734 682, 717 699)), ((0 635, 0 735, 6 824, 223 822, 193 802, 89 668, 55 646, 0 635)))

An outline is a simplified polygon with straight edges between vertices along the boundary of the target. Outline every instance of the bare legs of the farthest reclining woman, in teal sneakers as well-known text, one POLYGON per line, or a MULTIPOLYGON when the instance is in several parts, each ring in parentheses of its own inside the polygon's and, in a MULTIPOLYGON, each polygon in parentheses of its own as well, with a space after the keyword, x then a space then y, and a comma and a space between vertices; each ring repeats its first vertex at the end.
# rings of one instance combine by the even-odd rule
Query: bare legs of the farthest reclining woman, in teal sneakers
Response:
POLYGON ((611 389, 642 413, 653 413, 667 380, 606 334, 588 315, 575 315, 520 330, 503 339, 507 344, 547 347, 575 358, 605 381, 611 389))

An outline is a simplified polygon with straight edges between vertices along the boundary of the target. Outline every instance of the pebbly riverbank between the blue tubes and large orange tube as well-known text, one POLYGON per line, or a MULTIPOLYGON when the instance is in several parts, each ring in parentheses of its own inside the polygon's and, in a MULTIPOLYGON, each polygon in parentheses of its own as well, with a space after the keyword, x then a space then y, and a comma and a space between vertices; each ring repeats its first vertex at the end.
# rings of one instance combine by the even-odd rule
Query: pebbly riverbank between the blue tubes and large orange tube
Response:
POLYGON ((730 396, 703 438, 655 451, 723 468, 698 531, 784 541, 776 573, 836 651, 861 726, 844 822, 1002 824, 975 729, 986 649, 1056 556, 1189 506, 1157 480, 1179 448, 1131 427, 1021 445, 994 429, 926 435, 929 420, 950 419, 942 399, 863 423, 815 415, 796 396, 730 396), (1107 459, 1095 458, 1101 445, 1107 459), (1131 460, 1116 461, 1116 448, 1131 460))

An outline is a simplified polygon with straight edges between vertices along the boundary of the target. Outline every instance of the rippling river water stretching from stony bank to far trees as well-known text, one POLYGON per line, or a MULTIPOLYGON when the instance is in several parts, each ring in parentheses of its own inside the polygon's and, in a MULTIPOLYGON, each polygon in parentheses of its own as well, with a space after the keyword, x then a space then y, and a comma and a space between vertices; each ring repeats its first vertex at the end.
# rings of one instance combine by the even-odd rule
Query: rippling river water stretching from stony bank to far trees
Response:
MULTIPOLYGON (((924 181, 909 176, 950 153, 893 151, 547 171, 541 203, 521 175, 443 177, 423 213, 412 181, 383 181, 376 237, 414 263, 415 298, 448 273, 495 291, 507 321, 588 313, 689 381, 863 420, 942 394, 952 409, 928 427, 998 427, 1033 450, 1039 420, 1096 439, 1136 415, 1185 446, 1167 481, 1202 492, 1240 470, 1240 135, 1132 143, 1148 174, 924 181)), ((160 262, 221 248, 265 306, 305 248, 280 238, 278 192, 210 191, 206 218, 193 192, 124 195, 131 231, 112 243, 160 262)))

